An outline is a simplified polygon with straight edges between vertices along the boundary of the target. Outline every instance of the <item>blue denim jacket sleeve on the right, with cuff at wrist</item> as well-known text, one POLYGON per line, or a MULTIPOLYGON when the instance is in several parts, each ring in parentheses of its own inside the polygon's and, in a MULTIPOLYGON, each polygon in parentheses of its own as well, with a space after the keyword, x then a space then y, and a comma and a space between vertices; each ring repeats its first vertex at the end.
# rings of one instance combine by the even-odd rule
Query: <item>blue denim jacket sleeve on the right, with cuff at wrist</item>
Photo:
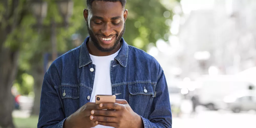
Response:
POLYGON ((164 72, 161 68, 161 74, 156 84, 156 94, 152 102, 150 115, 148 119, 141 116, 145 128, 171 128, 172 112, 170 107, 168 87, 164 72))

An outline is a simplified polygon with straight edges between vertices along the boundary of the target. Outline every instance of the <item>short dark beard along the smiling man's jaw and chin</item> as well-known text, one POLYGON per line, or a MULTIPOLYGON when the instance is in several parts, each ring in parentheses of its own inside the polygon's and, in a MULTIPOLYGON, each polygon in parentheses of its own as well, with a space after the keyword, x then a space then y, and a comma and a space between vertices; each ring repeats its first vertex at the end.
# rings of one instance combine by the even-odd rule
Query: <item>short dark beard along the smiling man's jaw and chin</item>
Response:
POLYGON ((124 23, 124 29, 121 31, 120 35, 116 34, 116 41, 114 42, 114 45, 110 48, 103 48, 102 46, 100 46, 100 43, 96 38, 96 35, 93 34, 91 29, 89 29, 88 23, 86 23, 86 25, 87 25, 87 30, 88 30, 88 33, 89 33, 90 39, 92 40, 93 45, 98 50, 100 50, 102 52, 110 52, 110 51, 114 50, 117 47, 117 45, 119 44, 119 42, 122 39, 122 36, 124 35, 124 32, 125 32, 125 23, 124 23))

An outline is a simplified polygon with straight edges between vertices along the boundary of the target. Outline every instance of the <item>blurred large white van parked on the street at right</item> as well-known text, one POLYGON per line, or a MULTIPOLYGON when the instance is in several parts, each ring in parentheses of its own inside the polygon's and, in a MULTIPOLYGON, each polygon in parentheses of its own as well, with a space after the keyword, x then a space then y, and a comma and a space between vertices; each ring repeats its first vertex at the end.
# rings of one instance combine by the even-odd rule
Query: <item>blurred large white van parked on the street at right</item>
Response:
POLYGON ((225 109, 225 96, 239 90, 247 90, 255 86, 234 75, 202 76, 196 80, 200 83, 199 102, 210 110, 225 109))

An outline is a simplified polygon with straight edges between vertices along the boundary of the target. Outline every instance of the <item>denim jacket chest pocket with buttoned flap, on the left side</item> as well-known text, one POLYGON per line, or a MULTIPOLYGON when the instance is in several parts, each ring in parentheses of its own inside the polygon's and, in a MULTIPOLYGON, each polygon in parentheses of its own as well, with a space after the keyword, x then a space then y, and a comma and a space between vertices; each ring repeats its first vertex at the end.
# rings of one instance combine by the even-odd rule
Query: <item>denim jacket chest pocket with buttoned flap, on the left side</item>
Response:
POLYGON ((60 95, 66 117, 79 109, 79 86, 61 86, 60 95))

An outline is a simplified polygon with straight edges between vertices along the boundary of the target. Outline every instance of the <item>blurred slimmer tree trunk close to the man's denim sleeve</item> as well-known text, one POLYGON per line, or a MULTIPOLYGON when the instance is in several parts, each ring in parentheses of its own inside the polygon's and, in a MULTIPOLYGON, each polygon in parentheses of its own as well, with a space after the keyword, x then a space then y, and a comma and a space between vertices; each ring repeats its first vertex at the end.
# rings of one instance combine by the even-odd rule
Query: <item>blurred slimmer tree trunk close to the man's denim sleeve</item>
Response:
POLYGON ((39 115, 40 111, 40 98, 41 98, 41 90, 42 90, 42 83, 44 80, 44 67, 42 64, 42 54, 35 54, 32 61, 32 71, 31 74, 34 77, 34 106, 32 108, 31 115, 39 115))

